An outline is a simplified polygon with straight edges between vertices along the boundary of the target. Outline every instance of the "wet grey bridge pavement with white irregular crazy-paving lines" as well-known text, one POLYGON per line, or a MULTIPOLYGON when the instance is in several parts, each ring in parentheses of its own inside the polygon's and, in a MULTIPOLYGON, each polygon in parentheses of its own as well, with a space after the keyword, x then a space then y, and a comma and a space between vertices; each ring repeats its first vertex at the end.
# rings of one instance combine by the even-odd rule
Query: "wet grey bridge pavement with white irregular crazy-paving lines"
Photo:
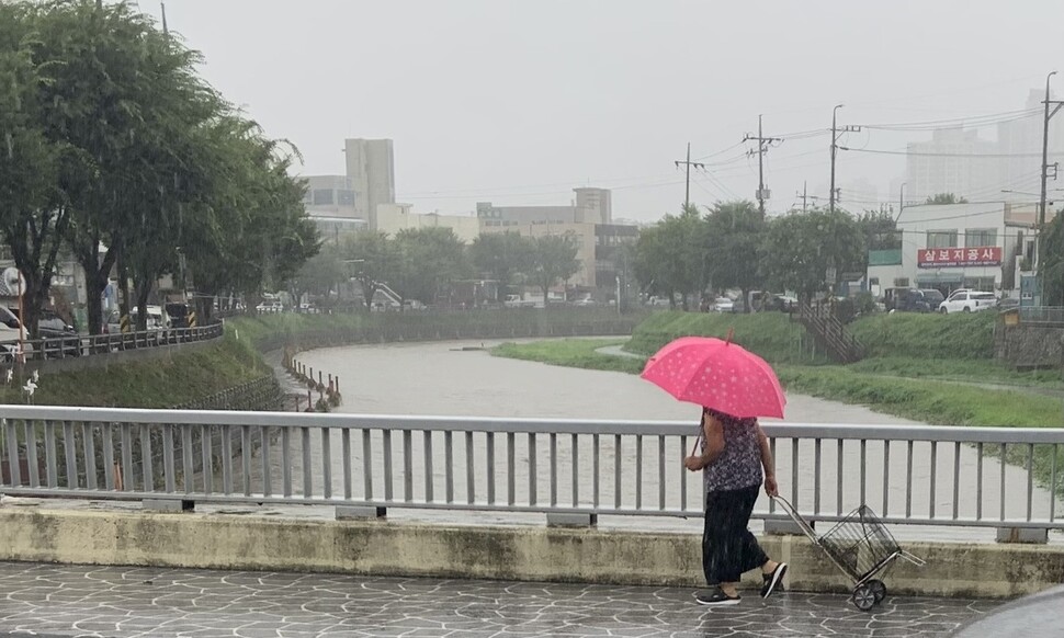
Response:
POLYGON ((750 592, 727 608, 671 588, 0 563, 0 636, 948 636, 989 601, 750 592))

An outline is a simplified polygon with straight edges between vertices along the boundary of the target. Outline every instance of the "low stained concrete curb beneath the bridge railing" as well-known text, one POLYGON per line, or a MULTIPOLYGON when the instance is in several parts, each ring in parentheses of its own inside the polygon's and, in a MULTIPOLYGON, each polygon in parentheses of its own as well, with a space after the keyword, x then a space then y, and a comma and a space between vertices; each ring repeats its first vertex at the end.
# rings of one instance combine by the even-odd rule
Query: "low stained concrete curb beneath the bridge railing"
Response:
MULTIPOLYGON (((0 560, 16 561, 704 584, 701 537, 680 533, 4 508, 0 538, 0 560)), ((762 544, 791 565, 791 589, 852 589, 805 537, 768 536, 762 544)), ((898 561, 884 578, 894 593, 1006 597, 1064 582, 1064 548, 1053 545, 913 543, 906 549, 927 566, 898 561)), ((752 578, 747 584, 759 586, 752 578)))

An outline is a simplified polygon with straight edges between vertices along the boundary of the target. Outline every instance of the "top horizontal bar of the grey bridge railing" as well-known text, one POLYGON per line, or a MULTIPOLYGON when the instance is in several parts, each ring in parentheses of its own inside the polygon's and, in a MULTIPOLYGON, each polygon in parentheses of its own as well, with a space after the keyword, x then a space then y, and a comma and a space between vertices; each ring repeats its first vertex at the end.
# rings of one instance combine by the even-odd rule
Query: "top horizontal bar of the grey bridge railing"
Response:
MULTIPOLYGON (((557 434, 689 435, 691 422, 518 419, 493 417, 411 417, 392 414, 320 414, 224 410, 144 410, 55 406, 0 406, 9 419, 99 423, 269 425, 392 431, 516 432, 557 434)), ((955 443, 1064 443, 1064 429, 953 428, 947 425, 851 425, 823 423, 762 424, 777 438, 868 441, 940 441, 955 443)))

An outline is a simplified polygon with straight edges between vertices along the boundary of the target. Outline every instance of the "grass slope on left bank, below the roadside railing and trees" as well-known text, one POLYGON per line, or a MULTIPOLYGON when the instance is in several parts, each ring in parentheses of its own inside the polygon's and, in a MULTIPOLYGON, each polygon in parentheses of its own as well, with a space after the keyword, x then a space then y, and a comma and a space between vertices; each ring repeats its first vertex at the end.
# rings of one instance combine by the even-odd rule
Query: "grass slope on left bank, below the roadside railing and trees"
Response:
MULTIPOLYGON (((171 351, 149 361, 122 362, 83 372, 41 376, 34 403, 169 408, 270 374, 261 356, 226 334, 195 352, 171 351)), ((19 387, 0 389, 0 403, 22 403, 19 387)))

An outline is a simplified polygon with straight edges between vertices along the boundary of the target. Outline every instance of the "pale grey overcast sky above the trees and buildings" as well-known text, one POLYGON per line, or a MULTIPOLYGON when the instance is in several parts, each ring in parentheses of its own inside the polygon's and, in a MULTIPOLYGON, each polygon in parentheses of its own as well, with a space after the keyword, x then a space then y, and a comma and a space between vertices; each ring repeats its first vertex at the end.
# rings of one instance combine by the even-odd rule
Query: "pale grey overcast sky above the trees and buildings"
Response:
MULTIPOLYGON (((139 5, 159 15, 159 2, 139 5)), ((752 198, 757 162, 739 143, 758 114, 766 135, 825 130, 839 103, 840 124, 964 118, 1021 110, 1064 71, 1060 0, 166 5, 170 29, 206 56, 204 76, 295 143, 304 174, 342 174, 346 137, 388 137, 397 197, 420 213, 565 204, 597 185, 614 189, 614 217, 656 219, 683 201, 674 161, 689 141, 693 158, 711 156, 692 201, 752 198)), ((904 149, 928 135, 844 144, 904 149)), ((828 144, 792 136, 766 156, 770 210, 806 181, 827 195, 828 144)), ((839 156, 839 184, 863 178, 881 200, 897 198, 903 173, 901 157, 839 156)))

